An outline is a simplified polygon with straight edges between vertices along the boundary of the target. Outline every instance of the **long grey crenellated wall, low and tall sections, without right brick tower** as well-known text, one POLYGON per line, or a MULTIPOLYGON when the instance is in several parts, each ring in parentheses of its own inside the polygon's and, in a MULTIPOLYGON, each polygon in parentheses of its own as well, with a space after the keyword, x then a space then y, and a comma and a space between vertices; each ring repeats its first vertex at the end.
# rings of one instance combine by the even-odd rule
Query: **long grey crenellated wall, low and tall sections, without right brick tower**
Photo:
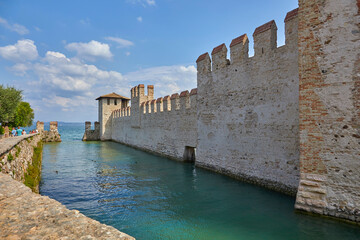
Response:
MULTIPOLYGON (((299 183, 297 10, 277 47, 270 21, 197 60, 198 90, 153 99, 154 87, 131 89, 131 109, 113 110, 105 132, 130 146, 296 194, 299 183)), ((99 108, 99 112, 103 109, 99 108)), ((108 114, 108 113, 107 113, 108 114)), ((100 123, 101 124, 101 123, 100 123)))

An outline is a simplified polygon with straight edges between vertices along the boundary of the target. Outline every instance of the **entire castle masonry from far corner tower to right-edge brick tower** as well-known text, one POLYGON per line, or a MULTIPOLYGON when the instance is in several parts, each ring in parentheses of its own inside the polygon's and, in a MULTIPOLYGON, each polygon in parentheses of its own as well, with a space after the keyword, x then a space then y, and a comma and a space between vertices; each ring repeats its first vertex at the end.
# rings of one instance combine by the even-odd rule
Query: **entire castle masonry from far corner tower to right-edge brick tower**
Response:
POLYGON ((131 108, 99 117, 99 137, 181 160, 196 149, 197 166, 297 194, 297 209, 360 222, 359 6, 300 0, 285 18, 284 46, 274 21, 254 31, 253 57, 246 34, 231 42, 230 60, 221 44, 197 59, 197 89, 155 100, 140 84, 131 108))

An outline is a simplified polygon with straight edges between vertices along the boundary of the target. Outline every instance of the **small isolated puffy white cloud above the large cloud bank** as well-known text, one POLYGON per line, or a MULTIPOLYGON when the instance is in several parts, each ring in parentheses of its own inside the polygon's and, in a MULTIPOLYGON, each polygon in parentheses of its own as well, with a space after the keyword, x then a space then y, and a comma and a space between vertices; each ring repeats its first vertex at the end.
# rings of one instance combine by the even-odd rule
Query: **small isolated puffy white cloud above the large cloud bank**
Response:
POLYGON ((110 47, 106 43, 91 40, 88 43, 69 43, 65 46, 69 51, 74 51, 80 58, 95 61, 96 57, 111 59, 113 56, 110 47))

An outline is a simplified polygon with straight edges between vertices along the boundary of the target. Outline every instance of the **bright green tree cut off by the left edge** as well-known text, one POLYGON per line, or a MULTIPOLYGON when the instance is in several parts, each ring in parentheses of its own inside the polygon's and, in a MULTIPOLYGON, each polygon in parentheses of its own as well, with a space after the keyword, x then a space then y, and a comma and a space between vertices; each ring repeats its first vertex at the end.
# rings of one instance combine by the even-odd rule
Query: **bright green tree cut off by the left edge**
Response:
POLYGON ((0 85, 0 123, 2 125, 14 121, 16 108, 22 99, 21 92, 13 87, 5 88, 0 85))

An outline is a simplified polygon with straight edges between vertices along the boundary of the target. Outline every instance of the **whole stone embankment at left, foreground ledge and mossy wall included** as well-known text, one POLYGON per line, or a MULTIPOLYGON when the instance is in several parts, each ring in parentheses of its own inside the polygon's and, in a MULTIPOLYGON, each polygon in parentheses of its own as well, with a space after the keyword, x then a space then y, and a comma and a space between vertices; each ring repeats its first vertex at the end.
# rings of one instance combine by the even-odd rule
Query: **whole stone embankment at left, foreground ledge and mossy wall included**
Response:
POLYGON ((60 139, 57 124, 39 132, 0 140, 0 239, 134 239, 35 193, 39 192, 42 142, 60 139), (48 141, 44 135, 50 136, 48 141))

